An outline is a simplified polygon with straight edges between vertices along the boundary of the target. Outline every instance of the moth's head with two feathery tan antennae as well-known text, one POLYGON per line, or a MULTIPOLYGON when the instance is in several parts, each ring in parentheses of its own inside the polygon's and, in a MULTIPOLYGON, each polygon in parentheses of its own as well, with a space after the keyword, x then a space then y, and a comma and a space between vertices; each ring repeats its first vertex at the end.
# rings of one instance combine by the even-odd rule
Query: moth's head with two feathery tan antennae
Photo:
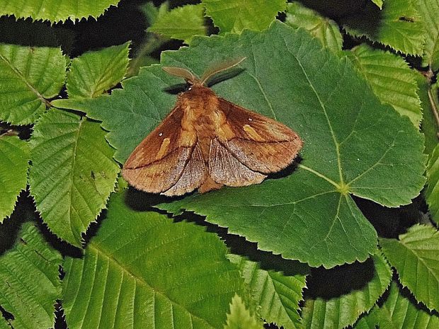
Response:
POLYGON ((201 78, 198 78, 198 76, 195 76, 191 71, 188 69, 182 69, 181 67, 163 67, 164 71, 167 73, 173 75, 173 76, 180 76, 181 78, 186 80, 186 83, 190 85, 189 88, 192 88, 193 86, 208 86, 209 80, 228 69, 232 69, 232 67, 236 67, 236 65, 240 64, 242 61, 244 61, 246 57, 239 57, 236 59, 233 59, 231 61, 222 62, 220 64, 214 65, 207 69, 203 76, 201 78))

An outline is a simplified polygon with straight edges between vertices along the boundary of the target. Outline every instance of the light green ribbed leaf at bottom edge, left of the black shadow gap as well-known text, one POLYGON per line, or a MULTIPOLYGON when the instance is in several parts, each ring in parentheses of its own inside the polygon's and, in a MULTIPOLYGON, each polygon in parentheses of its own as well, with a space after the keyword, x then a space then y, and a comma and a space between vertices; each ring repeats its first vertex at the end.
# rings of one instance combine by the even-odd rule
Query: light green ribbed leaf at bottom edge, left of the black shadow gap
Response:
MULTIPOLYGON (((268 323, 282 325, 285 329, 301 328, 297 310, 302 301, 302 289, 305 287, 306 275, 296 263, 288 262, 283 272, 261 268, 258 262, 247 260, 239 255, 227 256, 234 263, 249 284, 253 300, 261 306, 261 318, 268 323)), ((284 261, 286 262, 286 261, 284 261)), ((269 268, 273 268, 269 266, 269 268)))

